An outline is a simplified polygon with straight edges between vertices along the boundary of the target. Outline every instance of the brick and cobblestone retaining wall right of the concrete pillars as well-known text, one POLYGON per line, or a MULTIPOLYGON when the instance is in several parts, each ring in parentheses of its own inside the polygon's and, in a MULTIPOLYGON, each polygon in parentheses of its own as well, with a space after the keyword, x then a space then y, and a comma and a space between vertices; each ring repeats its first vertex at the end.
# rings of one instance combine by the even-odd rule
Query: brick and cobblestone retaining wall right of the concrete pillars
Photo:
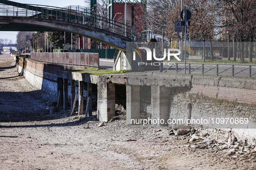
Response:
MULTIPOLYGON (((256 79, 194 75, 191 80, 190 91, 174 96, 170 119, 249 118, 256 128, 256 79)), ((237 139, 256 146, 256 129, 232 129, 220 125, 205 131, 219 140, 237 139)))

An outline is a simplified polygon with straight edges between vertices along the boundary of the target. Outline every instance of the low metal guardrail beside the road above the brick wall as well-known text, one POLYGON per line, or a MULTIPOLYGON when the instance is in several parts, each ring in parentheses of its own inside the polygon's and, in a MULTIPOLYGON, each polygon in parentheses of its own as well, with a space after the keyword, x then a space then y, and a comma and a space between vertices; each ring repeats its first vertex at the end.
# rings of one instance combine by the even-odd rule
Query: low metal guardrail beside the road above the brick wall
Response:
MULTIPOLYGON (((175 71, 181 72, 185 70, 184 63, 175 63, 174 66, 169 66, 164 72, 167 72, 172 67, 175 71)), ((256 77, 256 64, 235 64, 235 63, 187 63, 186 72, 189 74, 209 74, 216 76, 241 76, 241 77, 256 77), (194 67, 193 67, 194 66, 194 67)))

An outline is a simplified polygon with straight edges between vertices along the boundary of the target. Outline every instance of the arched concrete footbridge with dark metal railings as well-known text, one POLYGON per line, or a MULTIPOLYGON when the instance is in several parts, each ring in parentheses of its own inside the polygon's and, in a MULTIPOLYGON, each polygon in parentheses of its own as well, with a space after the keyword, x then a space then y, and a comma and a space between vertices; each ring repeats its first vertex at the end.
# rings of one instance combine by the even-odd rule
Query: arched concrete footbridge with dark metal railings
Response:
POLYGON ((0 1, 0 31, 67 31, 121 51, 132 41, 132 28, 74 8, 0 1))

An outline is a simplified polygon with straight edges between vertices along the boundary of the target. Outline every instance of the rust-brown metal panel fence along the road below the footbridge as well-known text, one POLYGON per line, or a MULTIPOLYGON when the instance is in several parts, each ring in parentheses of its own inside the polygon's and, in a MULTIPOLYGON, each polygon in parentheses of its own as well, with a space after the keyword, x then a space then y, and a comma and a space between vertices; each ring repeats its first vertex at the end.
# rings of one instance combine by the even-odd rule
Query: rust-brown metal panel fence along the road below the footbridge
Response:
POLYGON ((45 63, 99 67, 97 53, 31 53, 31 59, 45 63))

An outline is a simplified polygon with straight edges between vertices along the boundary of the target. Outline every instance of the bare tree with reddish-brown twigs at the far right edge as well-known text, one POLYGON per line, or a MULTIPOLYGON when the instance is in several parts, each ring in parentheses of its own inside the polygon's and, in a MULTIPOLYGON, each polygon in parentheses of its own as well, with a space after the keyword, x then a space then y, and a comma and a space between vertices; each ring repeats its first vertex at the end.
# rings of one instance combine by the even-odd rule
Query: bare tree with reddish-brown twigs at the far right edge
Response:
MULTIPOLYGON (((223 28, 229 32, 235 41, 246 42, 256 39, 256 1, 248 0, 219 0, 222 3, 224 15, 223 28)), ((243 62, 246 54, 252 62, 252 44, 249 43, 249 53, 246 43, 238 43, 237 50, 243 62), (244 52, 246 50, 246 52, 244 52)), ((236 58, 234 58, 236 60, 236 58)))

